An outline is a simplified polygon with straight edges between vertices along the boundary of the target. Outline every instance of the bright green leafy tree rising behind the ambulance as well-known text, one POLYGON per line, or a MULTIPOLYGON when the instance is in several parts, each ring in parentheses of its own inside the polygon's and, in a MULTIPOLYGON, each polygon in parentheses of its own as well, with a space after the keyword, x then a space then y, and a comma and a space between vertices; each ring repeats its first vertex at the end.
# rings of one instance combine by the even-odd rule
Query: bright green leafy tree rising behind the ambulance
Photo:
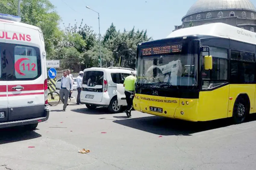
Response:
MULTIPOLYGON (((17 0, 1 0, 0 13, 17 15, 17 0)), ((55 44, 61 38, 58 28, 60 16, 49 0, 23 0, 20 4, 21 22, 41 28, 48 58, 55 54, 55 44)))

